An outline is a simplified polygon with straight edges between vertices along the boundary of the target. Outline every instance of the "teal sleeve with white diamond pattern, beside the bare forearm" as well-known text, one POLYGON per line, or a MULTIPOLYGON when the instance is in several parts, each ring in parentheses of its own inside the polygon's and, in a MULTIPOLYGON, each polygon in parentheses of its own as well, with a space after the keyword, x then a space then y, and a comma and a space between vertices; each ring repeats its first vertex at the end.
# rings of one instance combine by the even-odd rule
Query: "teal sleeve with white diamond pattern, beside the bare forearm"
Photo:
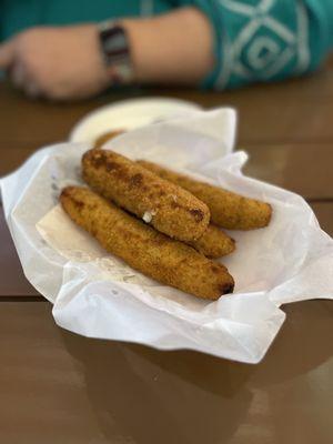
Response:
POLYGON ((214 29, 203 88, 278 81, 313 71, 333 47, 333 0, 193 0, 214 29))

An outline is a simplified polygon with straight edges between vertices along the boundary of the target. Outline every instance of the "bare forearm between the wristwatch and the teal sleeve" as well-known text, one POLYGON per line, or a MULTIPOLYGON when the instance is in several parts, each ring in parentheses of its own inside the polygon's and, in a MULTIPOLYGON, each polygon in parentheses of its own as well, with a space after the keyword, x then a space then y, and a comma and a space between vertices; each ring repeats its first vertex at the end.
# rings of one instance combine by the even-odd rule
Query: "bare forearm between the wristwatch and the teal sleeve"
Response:
POLYGON ((143 20, 123 20, 140 83, 194 85, 213 69, 213 32, 199 9, 184 8, 143 20))

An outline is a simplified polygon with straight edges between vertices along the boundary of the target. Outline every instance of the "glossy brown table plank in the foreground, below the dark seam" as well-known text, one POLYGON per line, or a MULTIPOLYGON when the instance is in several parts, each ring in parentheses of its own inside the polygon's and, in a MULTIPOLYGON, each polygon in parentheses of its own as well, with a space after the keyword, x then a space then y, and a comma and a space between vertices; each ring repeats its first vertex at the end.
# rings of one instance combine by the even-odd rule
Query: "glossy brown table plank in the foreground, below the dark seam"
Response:
POLYGON ((332 302, 285 306, 264 361, 97 341, 54 325, 47 302, 2 302, 6 444, 332 442, 332 302))

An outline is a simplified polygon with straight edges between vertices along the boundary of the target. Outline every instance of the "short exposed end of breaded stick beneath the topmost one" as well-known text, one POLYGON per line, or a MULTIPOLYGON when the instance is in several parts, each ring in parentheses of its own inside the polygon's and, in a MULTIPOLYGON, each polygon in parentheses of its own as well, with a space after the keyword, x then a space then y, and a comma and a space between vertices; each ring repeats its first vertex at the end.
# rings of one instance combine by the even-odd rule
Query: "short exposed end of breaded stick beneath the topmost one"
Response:
POLYGON ((188 243, 211 259, 225 256, 235 250, 234 240, 213 224, 209 224, 209 228, 200 239, 188 243))

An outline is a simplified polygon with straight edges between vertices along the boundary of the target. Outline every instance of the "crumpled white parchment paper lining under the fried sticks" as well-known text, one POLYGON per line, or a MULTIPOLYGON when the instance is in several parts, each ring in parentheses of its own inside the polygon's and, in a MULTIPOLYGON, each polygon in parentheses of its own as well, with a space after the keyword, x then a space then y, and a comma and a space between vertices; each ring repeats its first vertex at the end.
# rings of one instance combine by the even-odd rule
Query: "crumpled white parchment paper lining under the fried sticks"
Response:
POLYGON ((234 111, 219 109, 138 129, 107 145, 272 204, 269 228, 232 232, 238 248, 222 262, 235 279, 235 292, 216 302, 133 271, 64 214, 59 192, 81 183, 80 158, 88 144, 40 150, 1 180, 24 273, 53 303, 60 326, 90 337, 258 363, 284 321, 281 304, 333 297, 332 239, 301 196, 242 174, 246 154, 231 153, 234 135, 234 111))

